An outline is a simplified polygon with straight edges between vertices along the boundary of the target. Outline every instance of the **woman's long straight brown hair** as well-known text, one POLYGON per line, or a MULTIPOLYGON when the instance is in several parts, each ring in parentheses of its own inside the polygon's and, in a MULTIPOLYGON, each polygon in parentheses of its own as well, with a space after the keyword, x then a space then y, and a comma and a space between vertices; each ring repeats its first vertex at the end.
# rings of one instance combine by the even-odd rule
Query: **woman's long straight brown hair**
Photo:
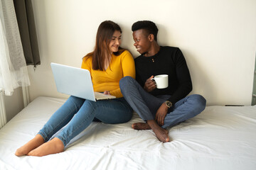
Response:
MULTIPOLYGON (((110 62, 110 58, 108 56, 111 54, 109 45, 115 30, 119 30, 120 33, 122 33, 122 30, 117 25, 117 23, 112 21, 103 21, 100 23, 96 35, 95 50, 85 56, 92 56, 92 69, 99 69, 103 71, 105 67, 105 61, 109 60, 108 62, 110 62)), ((114 52, 114 55, 120 55, 122 52, 124 52, 124 50, 119 47, 119 50, 114 52)))

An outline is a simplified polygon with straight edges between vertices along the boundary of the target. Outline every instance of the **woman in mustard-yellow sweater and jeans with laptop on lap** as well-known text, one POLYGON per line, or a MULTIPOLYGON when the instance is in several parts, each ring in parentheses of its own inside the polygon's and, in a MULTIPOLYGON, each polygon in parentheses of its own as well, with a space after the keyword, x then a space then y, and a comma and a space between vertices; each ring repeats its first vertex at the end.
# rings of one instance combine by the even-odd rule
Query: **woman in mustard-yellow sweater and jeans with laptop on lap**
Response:
POLYGON ((41 157, 63 152, 68 142, 93 120, 114 124, 126 123, 132 118, 132 108, 121 94, 119 80, 135 77, 134 60, 127 50, 119 47, 121 34, 117 23, 102 22, 97 30, 95 50, 82 59, 82 68, 90 71, 94 90, 117 98, 94 102, 70 96, 36 137, 16 150, 16 156, 41 157), (61 128, 63 130, 50 140, 61 128))

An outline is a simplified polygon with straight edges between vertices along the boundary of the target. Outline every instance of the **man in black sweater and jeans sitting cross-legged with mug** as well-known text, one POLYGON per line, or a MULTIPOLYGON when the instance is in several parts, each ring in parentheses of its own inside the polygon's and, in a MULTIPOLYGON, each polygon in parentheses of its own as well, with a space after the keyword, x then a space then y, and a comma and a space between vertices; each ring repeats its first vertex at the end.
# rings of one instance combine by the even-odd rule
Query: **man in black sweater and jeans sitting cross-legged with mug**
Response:
POLYGON ((192 91, 186 60, 178 47, 161 47, 157 43, 158 28, 151 21, 132 25, 134 46, 141 54, 135 59, 136 80, 124 77, 119 82, 124 98, 145 123, 134 123, 136 130, 153 130, 161 142, 169 142, 168 130, 193 118, 206 108, 206 99, 192 91), (169 75, 169 86, 156 89, 152 78, 169 75))

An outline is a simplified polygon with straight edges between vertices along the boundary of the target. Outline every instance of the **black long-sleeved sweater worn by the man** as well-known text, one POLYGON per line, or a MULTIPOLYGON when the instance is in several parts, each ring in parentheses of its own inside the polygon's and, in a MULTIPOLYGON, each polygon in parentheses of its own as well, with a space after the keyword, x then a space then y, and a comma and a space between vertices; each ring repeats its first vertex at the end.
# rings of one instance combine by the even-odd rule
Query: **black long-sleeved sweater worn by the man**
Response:
POLYGON ((140 55, 135 59, 136 79, 144 87, 146 79, 159 74, 169 75, 166 89, 154 89, 154 96, 169 94, 171 103, 186 97, 192 90, 192 81, 186 60, 178 47, 160 47, 159 52, 151 57, 140 55))

